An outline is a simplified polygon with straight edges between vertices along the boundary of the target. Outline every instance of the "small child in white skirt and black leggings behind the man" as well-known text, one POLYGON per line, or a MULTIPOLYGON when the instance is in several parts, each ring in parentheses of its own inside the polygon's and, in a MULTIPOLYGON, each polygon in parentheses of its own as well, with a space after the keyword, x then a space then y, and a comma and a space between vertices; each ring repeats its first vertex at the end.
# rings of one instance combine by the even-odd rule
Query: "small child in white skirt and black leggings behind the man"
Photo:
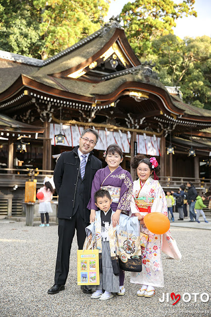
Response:
POLYGON ((37 192, 42 192, 44 194, 43 199, 39 199, 39 213, 41 215, 41 224, 40 227, 45 227, 45 217, 46 214, 46 226, 49 227, 49 212, 53 212, 51 201, 53 199, 53 187, 50 182, 45 182, 45 185, 38 189, 37 192))

